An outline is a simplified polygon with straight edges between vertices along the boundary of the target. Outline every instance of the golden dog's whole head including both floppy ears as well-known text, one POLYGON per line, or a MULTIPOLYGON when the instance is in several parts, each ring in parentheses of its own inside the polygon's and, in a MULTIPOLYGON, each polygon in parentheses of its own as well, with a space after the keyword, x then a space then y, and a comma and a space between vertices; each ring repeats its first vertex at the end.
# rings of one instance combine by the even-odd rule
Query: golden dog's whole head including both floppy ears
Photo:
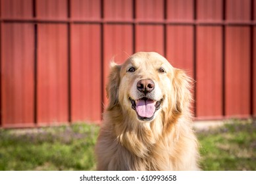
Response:
POLYGON ((136 53, 124 64, 111 64, 108 109, 117 104, 124 116, 151 122, 159 114, 177 116, 188 110, 190 78, 158 53, 136 53))

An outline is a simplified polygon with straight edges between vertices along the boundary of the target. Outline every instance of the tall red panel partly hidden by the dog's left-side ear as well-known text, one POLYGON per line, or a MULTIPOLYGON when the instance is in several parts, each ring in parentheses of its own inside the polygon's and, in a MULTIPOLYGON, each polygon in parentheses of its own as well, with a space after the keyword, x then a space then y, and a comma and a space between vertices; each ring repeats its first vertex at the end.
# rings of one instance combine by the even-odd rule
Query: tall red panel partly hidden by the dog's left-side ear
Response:
MULTIPOLYGON (((122 64, 130 55, 133 54, 133 39, 131 25, 111 25, 104 26, 103 41, 103 86, 107 84, 107 76, 109 75, 109 64, 111 60, 122 64)), ((106 93, 104 90, 103 99, 107 104, 106 93)))

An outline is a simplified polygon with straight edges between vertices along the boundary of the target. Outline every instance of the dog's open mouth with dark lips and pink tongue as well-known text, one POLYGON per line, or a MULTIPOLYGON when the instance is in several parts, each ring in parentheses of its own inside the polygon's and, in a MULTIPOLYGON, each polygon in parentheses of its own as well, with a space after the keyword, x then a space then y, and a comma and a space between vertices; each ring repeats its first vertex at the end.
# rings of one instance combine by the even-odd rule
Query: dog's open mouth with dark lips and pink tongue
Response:
POLYGON ((160 101, 153 101, 152 99, 148 99, 147 97, 143 97, 138 100, 133 100, 129 97, 132 108, 136 111, 138 118, 143 121, 150 121, 153 120, 155 112, 159 110, 161 107, 160 101))

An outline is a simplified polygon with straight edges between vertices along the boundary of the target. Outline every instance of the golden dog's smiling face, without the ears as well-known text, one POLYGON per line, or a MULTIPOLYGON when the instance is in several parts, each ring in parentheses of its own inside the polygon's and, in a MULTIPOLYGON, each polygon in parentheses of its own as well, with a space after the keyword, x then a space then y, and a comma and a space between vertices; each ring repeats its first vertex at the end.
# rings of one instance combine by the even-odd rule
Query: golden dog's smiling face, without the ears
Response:
POLYGON ((120 70, 119 101, 132 110, 138 120, 151 121, 170 91, 172 66, 157 53, 137 53, 120 70))

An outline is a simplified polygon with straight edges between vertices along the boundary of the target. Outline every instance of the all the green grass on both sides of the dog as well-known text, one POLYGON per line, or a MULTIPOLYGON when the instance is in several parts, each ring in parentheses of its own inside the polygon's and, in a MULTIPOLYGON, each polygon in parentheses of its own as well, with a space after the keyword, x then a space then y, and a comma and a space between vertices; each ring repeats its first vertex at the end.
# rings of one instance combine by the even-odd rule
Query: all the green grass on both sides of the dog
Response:
MULTIPOLYGON (((256 170, 256 121, 196 131, 202 170, 256 170)), ((0 170, 95 170, 99 127, 0 129, 0 170)))

